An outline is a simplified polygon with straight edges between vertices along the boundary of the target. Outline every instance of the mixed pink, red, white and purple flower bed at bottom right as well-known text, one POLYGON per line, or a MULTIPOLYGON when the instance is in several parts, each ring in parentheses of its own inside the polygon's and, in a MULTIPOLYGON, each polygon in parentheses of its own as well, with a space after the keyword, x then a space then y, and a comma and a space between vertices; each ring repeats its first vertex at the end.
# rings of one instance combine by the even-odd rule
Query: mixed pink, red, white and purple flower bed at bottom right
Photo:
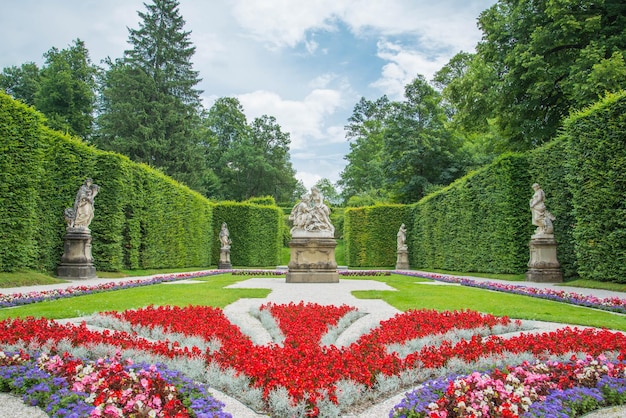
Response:
POLYGON ((407 393, 390 416, 565 418, 622 403, 626 403, 626 362, 589 356, 432 380, 407 393))

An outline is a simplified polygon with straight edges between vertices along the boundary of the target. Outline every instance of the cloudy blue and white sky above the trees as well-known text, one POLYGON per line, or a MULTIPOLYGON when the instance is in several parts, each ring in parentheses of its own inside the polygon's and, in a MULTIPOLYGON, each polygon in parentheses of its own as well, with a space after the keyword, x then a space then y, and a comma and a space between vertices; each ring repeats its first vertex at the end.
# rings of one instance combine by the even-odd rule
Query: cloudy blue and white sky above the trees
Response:
MULTIPOLYGON (((92 62, 121 58, 128 29, 152 0, 5 0, 0 69, 44 64, 52 47, 85 42, 92 62)), ((476 22, 496 0, 179 0, 196 47, 206 108, 239 99, 248 122, 274 116, 291 137, 296 177, 335 183, 347 161, 344 126, 362 98, 403 100, 456 53, 473 52, 476 22)))

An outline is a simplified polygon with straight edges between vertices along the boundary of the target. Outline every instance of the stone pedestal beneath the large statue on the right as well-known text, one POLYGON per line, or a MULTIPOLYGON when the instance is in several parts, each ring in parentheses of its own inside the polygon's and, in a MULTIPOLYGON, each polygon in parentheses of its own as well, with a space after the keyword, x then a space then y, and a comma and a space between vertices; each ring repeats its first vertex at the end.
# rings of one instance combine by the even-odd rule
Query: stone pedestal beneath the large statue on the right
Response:
POLYGON ((556 258, 556 241, 553 235, 533 235, 528 243, 530 261, 526 281, 561 283, 563 273, 556 258))

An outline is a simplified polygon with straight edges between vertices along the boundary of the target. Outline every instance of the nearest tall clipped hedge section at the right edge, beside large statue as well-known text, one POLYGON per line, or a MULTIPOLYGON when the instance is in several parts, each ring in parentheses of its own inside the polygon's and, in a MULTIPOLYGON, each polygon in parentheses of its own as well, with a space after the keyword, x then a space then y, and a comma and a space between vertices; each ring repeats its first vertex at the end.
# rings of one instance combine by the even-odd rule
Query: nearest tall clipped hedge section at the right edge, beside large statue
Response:
POLYGON ((626 92, 565 123, 578 272, 626 283, 626 92))

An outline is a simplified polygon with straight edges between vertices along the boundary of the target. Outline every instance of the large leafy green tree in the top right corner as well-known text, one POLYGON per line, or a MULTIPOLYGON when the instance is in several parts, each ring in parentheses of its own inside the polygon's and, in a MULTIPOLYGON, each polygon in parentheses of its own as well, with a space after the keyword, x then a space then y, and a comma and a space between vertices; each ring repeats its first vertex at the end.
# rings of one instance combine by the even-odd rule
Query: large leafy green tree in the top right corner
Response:
POLYGON ((625 16, 619 1, 499 0, 455 104, 495 118, 511 149, 548 142, 572 109, 626 87, 625 16))

